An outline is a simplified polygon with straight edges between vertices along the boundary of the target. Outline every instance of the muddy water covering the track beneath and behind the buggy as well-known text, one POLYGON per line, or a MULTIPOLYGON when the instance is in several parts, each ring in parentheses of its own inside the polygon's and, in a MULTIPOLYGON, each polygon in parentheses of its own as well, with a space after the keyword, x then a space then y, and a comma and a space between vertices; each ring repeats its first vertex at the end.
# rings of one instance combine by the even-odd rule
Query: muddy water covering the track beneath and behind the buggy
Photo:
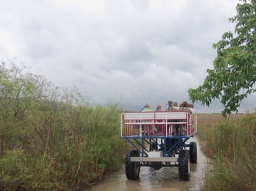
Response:
POLYGON ((188 142, 195 141, 198 146, 198 163, 191 164, 190 181, 180 182, 178 178, 178 167, 162 167, 154 170, 151 167, 140 167, 139 180, 127 180, 125 167, 114 172, 112 175, 104 177, 98 185, 94 185, 91 191, 137 191, 137 190, 200 190, 203 185, 207 158, 200 150, 200 145, 196 138, 190 138, 188 142))

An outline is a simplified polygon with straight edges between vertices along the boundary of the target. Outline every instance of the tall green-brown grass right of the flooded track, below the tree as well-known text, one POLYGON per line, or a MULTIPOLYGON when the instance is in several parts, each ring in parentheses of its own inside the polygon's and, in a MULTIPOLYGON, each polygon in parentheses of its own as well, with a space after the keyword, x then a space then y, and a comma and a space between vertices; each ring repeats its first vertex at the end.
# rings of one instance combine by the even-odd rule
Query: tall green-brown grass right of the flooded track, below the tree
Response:
POLYGON ((200 126, 198 135, 213 158, 203 190, 256 190, 255 113, 200 126))

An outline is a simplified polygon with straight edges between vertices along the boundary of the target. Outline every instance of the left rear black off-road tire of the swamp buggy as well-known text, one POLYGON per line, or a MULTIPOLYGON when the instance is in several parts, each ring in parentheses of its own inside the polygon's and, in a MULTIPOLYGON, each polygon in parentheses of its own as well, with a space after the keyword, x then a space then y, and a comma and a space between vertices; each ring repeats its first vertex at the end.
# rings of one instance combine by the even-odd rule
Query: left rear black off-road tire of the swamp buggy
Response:
POLYGON ((137 180, 140 175, 140 163, 131 162, 130 157, 139 157, 138 150, 131 150, 126 155, 126 177, 128 180, 137 180))

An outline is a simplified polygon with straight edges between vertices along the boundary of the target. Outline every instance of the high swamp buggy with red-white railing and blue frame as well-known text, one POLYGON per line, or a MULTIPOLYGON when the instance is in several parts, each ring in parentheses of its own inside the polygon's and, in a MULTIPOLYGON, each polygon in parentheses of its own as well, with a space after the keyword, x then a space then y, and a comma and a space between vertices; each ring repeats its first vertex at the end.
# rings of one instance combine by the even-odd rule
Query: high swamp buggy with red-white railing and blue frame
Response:
POLYGON ((197 132, 197 116, 184 111, 121 114, 121 138, 132 150, 126 155, 126 177, 137 180, 141 166, 178 167, 180 180, 190 180, 190 162, 197 162, 197 144, 187 140, 197 132))

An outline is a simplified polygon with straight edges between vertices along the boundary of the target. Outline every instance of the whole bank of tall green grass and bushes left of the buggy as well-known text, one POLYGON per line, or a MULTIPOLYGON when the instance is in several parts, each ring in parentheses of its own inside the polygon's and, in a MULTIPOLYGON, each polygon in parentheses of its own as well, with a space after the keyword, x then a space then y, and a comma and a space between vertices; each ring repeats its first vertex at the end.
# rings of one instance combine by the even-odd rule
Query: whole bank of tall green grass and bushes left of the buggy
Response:
POLYGON ((121 108, 0 66, 0 190, 84 190, 126 153, 121 108))

